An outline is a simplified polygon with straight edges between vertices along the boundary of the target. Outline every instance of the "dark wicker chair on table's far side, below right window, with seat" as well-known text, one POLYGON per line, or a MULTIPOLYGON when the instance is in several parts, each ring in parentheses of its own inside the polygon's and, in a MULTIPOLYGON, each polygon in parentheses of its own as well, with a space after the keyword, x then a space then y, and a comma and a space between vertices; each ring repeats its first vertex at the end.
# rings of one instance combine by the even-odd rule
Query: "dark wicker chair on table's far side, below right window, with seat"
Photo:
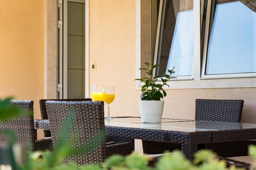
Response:
MULTIPOLYGON (((239 122, 243 109, 243 100, 213 100, 196 99, 196 116, 199 121, 221 121, 221 122, 239 122)), ((245 141, 243 141, 245 142, 245 141)), ((247 142, 247 141, 246 141, 247 142)), ((164 143, 142 140, 143 151, 147 154, 161 154, 165 150, 180 149, 177 143, 164 143)), ((218 155, 223 157, 240 156, 244 154, 234 147, 240 146, 240 142, 209 143, 198 146, 198 149, 212 149, 218 155)), ((243 150, 247 145, 243 145, 243 150)))

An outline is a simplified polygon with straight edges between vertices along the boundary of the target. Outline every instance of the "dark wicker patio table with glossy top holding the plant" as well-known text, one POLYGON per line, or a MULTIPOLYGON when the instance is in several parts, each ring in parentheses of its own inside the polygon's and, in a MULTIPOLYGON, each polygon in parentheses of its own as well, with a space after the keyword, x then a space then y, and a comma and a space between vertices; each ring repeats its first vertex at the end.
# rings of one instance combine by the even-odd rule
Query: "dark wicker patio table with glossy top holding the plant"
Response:
MULTIPOLYGON (((35 120, 36 129, 50 130, 48 120, 35 120)), ((141 123, 139 117, 115 117, 105 120, 105 131, 118 137, 181 144, 188 159, 200 143, 218 143, 256 139, 255 123, 194 121, 163 118, 161 123, 141 123)))

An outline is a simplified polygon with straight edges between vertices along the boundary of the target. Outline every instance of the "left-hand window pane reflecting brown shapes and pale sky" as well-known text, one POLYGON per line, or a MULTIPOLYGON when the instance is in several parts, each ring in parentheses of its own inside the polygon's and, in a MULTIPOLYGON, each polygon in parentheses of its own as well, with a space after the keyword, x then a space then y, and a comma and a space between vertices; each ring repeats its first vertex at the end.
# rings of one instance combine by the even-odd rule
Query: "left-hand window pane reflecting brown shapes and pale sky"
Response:
POLYGON ((189 76, 194 52, 193 1, 163 1, 161 23, 158 23, 157 75, 175 66, 174 76, 189 76))

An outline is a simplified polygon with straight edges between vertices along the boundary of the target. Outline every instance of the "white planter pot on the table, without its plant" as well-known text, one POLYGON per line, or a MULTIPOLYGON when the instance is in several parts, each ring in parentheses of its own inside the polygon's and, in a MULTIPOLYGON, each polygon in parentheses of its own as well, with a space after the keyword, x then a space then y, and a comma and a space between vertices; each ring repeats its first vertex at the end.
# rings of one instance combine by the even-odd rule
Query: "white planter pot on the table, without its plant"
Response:
POLYGON ((161 123, 164 100, 139 100, 141 123, 161 123))

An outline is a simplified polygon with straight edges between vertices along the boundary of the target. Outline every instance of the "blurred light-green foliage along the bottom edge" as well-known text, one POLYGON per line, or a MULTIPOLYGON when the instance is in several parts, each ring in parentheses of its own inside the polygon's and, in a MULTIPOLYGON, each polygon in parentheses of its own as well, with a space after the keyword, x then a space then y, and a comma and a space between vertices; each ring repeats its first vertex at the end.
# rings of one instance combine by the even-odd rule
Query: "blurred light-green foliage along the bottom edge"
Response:
MULTIPOLYGON (((250 146, 250 151, 255 151, 255 146, 250 146)), ((254 152, 253 151, 253 152, 254 152)), ((53 153, 46 152, 33 152, 29 156, 29 162, 24 169, 31 170, 57 170, 57 169, 70 169, 70 170, 187 170, 187 169, 199 169, 199 170, 238 170, 242 168, 237 168, 234 165, 227 167, 225 160, 220 160, 216 155, 210 150, 199 150, 195 154, 195 159, 189 161, 185 158, 182 152, 175 150, 173 152, 165 152, 163 156, 159 157, 155 163, 155 166, 149 166, 148 163, 152 159, 147 155, 142 155, 137 152, 133 152, 127 156, 113 155, 108 157, 102 164, 94 165, 82 165, 78 166, 75 163, 70 163, 68 165, 61 165, 56 163, 54 166, 49 167, 48 164, 52 158, 53 153)), ((255 153, 251 155, 255 157, 255 153)), ((254 167, 254 166, 253 166, 254 167)))

